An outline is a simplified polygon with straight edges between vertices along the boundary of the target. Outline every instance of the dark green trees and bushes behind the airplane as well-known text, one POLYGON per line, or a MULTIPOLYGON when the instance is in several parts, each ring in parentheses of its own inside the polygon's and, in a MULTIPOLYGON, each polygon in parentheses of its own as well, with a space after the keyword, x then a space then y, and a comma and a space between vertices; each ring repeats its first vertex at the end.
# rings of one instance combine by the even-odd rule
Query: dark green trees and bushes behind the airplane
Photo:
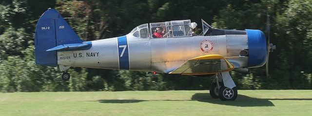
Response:
MULTIPOLYGON (((0 92, 203 90, 209 77, 56 67, 35 64, 34 31, 47 8, 57 9, 85 41, 128 34, 143 23, 206 20, 215 28, 266 31, 271 20, 270 77, 265 68, 231 72, 238 89, 312 89, 312 0, 1 0, 0 92)), ((200 27, 199 27, 200 28, 200 27)))

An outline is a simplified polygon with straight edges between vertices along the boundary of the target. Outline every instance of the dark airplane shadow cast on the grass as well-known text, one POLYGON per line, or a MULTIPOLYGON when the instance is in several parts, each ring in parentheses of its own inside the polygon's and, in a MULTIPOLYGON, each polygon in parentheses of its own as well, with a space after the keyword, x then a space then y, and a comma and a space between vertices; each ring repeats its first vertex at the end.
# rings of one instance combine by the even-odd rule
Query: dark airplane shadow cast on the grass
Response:
POLYGON ((238 95, 235 101, 221 101, 210 97, 209 93, 196 93, 191 100, 140 100, 140 99, 101 99, 100 103, 137 103, 142 101, 200 101, 220 105, 255 107, 255 106, 274 106, 270 100, 312 100, 312 98, 254 98, 245 95, 238 95))

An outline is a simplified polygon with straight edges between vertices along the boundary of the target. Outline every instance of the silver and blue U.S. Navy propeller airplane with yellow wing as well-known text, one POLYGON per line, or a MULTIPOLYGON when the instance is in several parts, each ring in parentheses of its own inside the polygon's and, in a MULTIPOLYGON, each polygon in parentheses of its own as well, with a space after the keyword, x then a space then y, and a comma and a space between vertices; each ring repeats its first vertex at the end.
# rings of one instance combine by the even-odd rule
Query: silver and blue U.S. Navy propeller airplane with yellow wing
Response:
POLYGON ((36 64, 58 66, 64 81, 70 78, 70 67, 213 75, 210 95, 235 100, 238 93, 229 71, 263 66, 275 46, 266 43, 260 30, 215 29, 202 19, 203 31, 194 35, 196 25, 191 20, 146 23, 125 36, 83 41, 49 8, 36 27, 36 64))

